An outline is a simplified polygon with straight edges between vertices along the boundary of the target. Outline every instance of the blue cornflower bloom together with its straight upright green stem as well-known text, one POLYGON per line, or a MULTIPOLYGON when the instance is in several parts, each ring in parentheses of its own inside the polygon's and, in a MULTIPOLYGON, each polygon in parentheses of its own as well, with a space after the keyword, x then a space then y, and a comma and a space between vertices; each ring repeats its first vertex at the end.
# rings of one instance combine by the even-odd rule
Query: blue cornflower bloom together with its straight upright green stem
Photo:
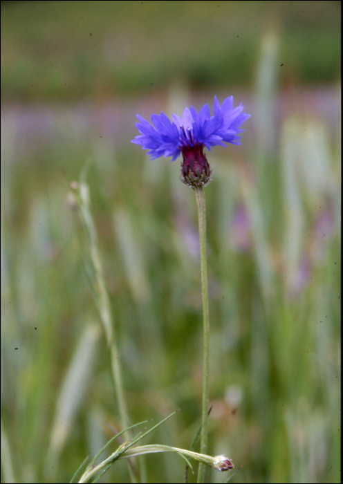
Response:
MULTIPOLYGON (((165 113, 151 115, 150 124, 147 120, 137 115, 140 122, 136 123, 140 135, 136 136, 133 143, 140 145, 142 149, 149 149, 151 160, 160 156, 172 156, 176 160, 180 154, 181 181, 192 187, 196 196, 198 208, 198 229, 201 245, 201 283, 203 295, 203 407, 201 420, 201 454, 207 452, 207 413, 208 413, 208 380, 209 380, 209 332, 210 321, 207 295, 207 259, 206 259, 206 212, 205 212, 205 187, 211 180, 212 170, 207 161, 204 149, 211 151, 211 147, 226 146, 225 142, 233 145, 241 145, 239 129, 243 122, 250 118, 250 114, 243 113, 244 106, 241 104, 234 108, 233 97, 227 97, 223 104, 214 97, 214 115, 211 116, 210 107, 205 104, 199 113, 191 107, 186 108, 183 117, 172 115, 172 121, 165 113)), ((203 483, 205 478, 205 465, 199 464, 198 483, 203 483)))

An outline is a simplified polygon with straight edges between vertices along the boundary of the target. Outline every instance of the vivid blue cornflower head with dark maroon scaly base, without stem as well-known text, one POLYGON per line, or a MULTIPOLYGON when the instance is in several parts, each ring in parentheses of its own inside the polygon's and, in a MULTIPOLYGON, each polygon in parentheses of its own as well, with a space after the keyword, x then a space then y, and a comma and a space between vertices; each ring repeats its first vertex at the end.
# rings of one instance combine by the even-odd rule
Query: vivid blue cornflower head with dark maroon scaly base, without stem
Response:
POLYGON ((210 181, 211 170, 203 153, 204 147, 211 151, 212 146, 226 146, 225 142, 241 145, 239 133, 244 130, 239 127, 250 118, 250 114, 243 113, 244 106, 241 104, 237 108, 233 104, 232 96, 227 97, 222 106, 215 96, 213 116, 210 107, 205 104, 199 113, 191 107, 185 109, 182 118, 173 114, 172 121, 163 112, 153 114, 151 121, 154 126, 138 114, 140 122, 136 126, 142 134, 132 142, 142 149, 149 149, 147 154, 151 160, 172 156, 174 161, 182 153, 183 182, 192 187, 206 185, 210 181))

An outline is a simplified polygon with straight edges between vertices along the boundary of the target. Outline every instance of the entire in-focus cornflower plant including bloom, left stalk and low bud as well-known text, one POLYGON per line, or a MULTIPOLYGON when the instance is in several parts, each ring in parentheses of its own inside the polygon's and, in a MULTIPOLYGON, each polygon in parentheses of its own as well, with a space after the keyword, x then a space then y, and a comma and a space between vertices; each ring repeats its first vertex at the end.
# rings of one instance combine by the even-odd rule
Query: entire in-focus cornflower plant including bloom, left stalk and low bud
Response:
MULTIPOLYGON (((111 311, 109 309, 108 295, 104 285, 102 277, 102 266, 100 263, 100 256, 98 254, 96 244, 96 232, 93 219, 91 217, 89 189, 85 181, 85 173, 80 178, 80 183, 71 183, 71 189, 73 189, 73 200, 75 201, 75 207, 79 210, 80 217, 86 233, 89 238, 89 254, 91 263, 93 266, 93 272, 95 272, 94 289, 97 306, 99 308, 100 317, 106 333, 107 343, 109 346, 109 353, 111 356, 111 371, 113 374, 113 382, 115 383, 115 393, 117 394, 120 418, 124 429, 116 434, 111 440, 109 440, 100 452, 86 465, 86 469, 79 477, 79 483, 89 482, 92 478, 96 482, 106 472, 116 460, 123 458, 130 458, 133 456, 140 456, 142 454, 151 454, 156 452, 175 452, 183 457, 187 463, 185 471, 185 482, 187 482, 187 470, 192 465, 189 462, 189 458, 198 460, 198 483, 203 483, 205 479, 205 465, 212 467, 218 471, 226 471, 234 468, 232 460, 220 455, 216 457, 207 455, 207 415, 208 411, 208 377, 209 377, 209 313, 208 313, 208 295, 207 295, 207 263, 206 263, 206 217, 205 217, 205 192, 203 187, 211 180, 211 169, 207 162, 205 153, 203 152, 205 147, 211 150, 212 146, 221 145, 226 146, 225 142, 232 143, 234 145, 240 145, 239 133, 243 131, 239 129, 241 124, 247 120, 250 115, 243 113, 243 106, 233 107, 233 98, 228 97, 221 106, 218 99, 214 100, 214 115, 211 116, 210 108, 208 104, 205 104, 201 111, 197 113, 193 107, 189 110, 185 109, 183 117, 179 118, 178 115, 173 115, 173 120, 162 112, 160 115, 151 115, 151 120, 155 126, 151 125, 147 120, 140 115, 137 123, 137 127, 140 131, 140 135, 136 136, 133 143, 140 145, 143 149, 149 149, 149 155, 151 159, 159 158, 160 156, 172 156, 172 161, 176 160, 182 153, 183 161, 181 162, 181 180, 183 183, 192 187, 196 194, 196 205, 198 207, 198 227, 201 243, 201 281, 202 281, 202 294, 203 294, 203 409, 201 427, 193 440, 191 448, 189 450, 179 449, 178 447, 170 447, 167 445, 142 445, 133 447, 142 438, 151 433, 154 429, 159 427, 163 422, 168 420, 174 415, 159 422, 157 425, 147 431, 139 432, 136 437, 131 436, 131 432, 138 425, 142 425, 146 422, 140 422, 136 425, 128 427, 128 416, 126 410, 126 404, 124 401, 124 391, 122 389, 122 382, 120 377, 120 365, 118 361, 118 349, 115 341, 115 333, 112 328, 113 322, 111 321, 111 311), (194 452, 194 447, 201 435, 201 452, 194 452), (120 436, 126 436, 118 449, 115 450, 108 458, 102 460, 98 465, 95 465, 95 461, 100 457, 100 454, 109 447, 109 445, 120 436), (129 438, 128 438, 129 437, 129 438)), ((71 482, 75 481, 75 478, 81 469, 86 464, 88 457, 84 460, 84 463, 77 469, 71 482)), ((240 469, 241 467, 239 467, 240 469)), ((133 472, 134 466, 129 467, 131 481, 137 482, 138 475, 133 472)), ((239 470, 238 469, 238 470, 239 470)), ((193 469, 192 469, 193 470, 193 469)), ((238 472, 238 471, 236 471, 238 472)), ((234 474, 233 474, 234 475, 234 474)), ((231 480, 233 475, 226 481, 231 480)))

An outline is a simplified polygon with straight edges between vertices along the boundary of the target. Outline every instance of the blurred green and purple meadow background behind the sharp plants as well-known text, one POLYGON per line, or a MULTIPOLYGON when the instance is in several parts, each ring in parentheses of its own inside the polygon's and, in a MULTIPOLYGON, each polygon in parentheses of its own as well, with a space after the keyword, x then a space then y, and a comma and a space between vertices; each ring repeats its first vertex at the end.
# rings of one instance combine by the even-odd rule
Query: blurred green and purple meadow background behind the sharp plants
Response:
MULTIPOLYGON (((179 160, 130 140, 136 113, 214 95, 252 116, 207 157, 209 453, 237 483, 340 482, 340 2, 157 0, 1 1, 1 482, 68 482, 120 429, 69 187, 85 165, 130 420, 180 408, 145 443, 189 448, 196 203, 179 160)), ((145 463, 182 482, 178 456, 145 463)))

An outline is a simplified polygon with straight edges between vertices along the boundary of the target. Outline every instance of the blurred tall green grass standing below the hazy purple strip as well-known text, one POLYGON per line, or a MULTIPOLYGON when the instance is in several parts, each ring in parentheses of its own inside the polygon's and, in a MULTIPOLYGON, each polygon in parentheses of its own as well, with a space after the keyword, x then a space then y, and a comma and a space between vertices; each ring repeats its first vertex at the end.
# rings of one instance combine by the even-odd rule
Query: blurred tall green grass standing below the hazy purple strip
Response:
MULTIPOLYGON (((263 45, 262 55, 277 59, 263 45)), ((270 67, 263 57, 260 66, 275 69, 279 60, 270 67)), ((268 95, 257 83, 255 105, 268 95)), ((340 481, 340 138, 331 120, 298 101, 291 91, 279 118, 268 104, 262 126, 247 105, 245 145, 209 155, 208 452, 243 464, 234 477, 241 483, 340 481), (271 125, 266 149, 257 134, 271 125)), ((109 134, 102 144, 69 112, 68 126, 62 116, 63 124, 35 131, 20 109, 4 111, 1 482, 69 481, 111 438, 110 427, 120 429, 85 235, 67 198, 89 157, 130 420, 180 408, 154 443, 187 449, 201 418, 194 194, 178 180, 177 163, 151 162, 129 145, 133 131, 109 156, 109 134)), ((182 481, 176 456, 146 463, 149 482, 182 481)), ((102 479, 128 481, 127 465, 116 463, 102 479)), ((207 481, 225 476, 209 472, 207 481)))

